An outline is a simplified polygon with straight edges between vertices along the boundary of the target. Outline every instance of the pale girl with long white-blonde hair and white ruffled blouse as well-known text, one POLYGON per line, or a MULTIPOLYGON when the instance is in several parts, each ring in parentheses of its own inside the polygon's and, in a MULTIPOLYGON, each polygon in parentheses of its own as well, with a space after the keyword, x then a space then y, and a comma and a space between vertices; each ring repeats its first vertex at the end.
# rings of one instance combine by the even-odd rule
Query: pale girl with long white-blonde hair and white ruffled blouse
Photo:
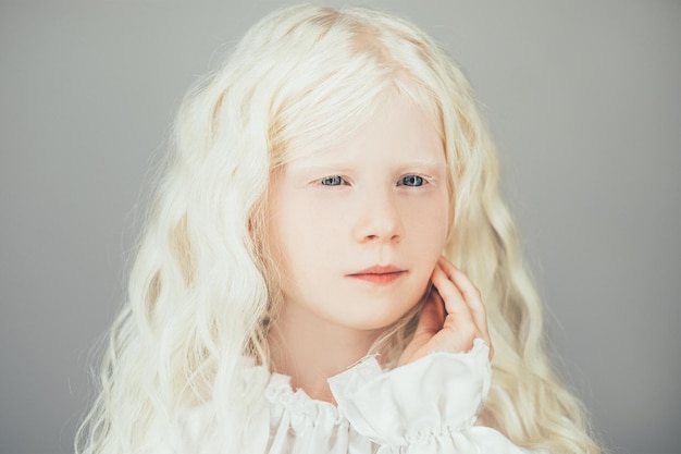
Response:
POLYGON ((497 180, 412 24, 265 17, 181 109, 79 451, 598 452, 497 180))

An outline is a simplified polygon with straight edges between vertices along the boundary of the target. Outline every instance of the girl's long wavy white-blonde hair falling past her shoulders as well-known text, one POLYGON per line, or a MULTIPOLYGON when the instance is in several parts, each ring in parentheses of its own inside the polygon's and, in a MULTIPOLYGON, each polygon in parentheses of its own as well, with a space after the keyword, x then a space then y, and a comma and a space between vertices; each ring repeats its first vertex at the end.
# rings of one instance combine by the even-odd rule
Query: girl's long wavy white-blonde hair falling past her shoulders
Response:
MULTIPOLYGON (((479 286, 496 351, 481 422, 531 449, 599 452, 545 353, 542 305, 466 77, 404 20, 314 5, 260 21, 183 102, 77 451, 150 451, 154 427, 177 427, 183 410, 208 401, 230 403, 215 424, 231 430, 225 445, 239 445, 264 388, 245 388, 240 371, 268 365, 280 299, 263 234, 270 173, 351 134, 388 88, 421 106, 445 144, 445 255, 479 286)), ((392 332, 395 349, 408 333, 392 332)))

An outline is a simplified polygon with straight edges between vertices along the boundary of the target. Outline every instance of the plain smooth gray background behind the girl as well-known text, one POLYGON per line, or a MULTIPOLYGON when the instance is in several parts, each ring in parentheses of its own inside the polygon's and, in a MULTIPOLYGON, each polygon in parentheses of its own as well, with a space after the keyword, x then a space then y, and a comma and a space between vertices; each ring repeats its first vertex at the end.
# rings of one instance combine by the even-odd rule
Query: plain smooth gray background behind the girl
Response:
MULTIPOLYGON (((559 368, 604 444, 681 453, 681 3, 510 3, 366 2, 476 88, 559 368)), ((71 452, 178 101, 280 4, 0 3, 0 452, 71 452)))

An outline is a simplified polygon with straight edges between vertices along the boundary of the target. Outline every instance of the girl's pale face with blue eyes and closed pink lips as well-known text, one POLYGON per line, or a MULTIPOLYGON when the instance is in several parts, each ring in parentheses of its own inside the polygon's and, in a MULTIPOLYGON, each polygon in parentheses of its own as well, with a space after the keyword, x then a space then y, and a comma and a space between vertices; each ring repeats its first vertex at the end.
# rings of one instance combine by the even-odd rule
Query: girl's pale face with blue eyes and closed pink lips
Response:
POLYGON ((448 231, 442 140, 397 94, 357 134, 273 175, 272 255, 283 311, 380 330, 419 303, 448 231))

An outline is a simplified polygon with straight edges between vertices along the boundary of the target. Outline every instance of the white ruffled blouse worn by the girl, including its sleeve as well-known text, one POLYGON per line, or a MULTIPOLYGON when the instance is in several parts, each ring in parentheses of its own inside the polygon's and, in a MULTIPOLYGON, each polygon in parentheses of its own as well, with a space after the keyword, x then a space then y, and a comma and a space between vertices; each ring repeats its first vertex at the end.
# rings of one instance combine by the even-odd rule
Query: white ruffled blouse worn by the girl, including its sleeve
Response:
MULTIPOLYGON (((264 373, 269 382, 244 453, 530 454, 498 431, 473 426, 490 389, 487 355, 478 339, 468 353, 432 353, 389 371, 367 357, 329 379, 337 407, 294 391, 287 376, 255 367, 250 379, 264 373)), ((190 419, 186 428, 200 432, 206 420, 190 419)), ((200 439, 182 444, 187 453, 220 451, 200 439)))

